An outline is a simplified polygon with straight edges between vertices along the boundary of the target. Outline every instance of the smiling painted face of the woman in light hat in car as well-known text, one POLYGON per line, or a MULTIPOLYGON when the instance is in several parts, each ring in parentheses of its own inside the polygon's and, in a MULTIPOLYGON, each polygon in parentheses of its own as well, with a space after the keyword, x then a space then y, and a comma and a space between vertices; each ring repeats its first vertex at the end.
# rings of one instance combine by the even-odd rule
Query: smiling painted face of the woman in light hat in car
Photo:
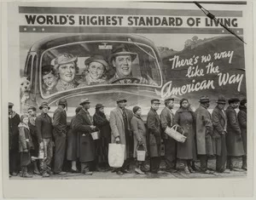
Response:
POLYGON ((64 82, 73 82, 75 76, 75 64, 73 62, 59 66, 60 79, 64 82))

